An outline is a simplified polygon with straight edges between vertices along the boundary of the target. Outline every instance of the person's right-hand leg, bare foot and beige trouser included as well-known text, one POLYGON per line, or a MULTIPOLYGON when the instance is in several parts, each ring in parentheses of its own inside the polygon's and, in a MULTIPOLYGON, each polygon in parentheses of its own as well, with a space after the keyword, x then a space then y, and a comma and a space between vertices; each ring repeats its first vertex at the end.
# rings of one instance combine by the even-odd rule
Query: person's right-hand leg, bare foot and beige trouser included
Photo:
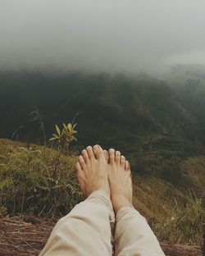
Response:
POLYGON ((145 218, 132 206, 130 164, 119 151, 110 149, 108 179, 116 213, 116 255, 164 256, 145 218))

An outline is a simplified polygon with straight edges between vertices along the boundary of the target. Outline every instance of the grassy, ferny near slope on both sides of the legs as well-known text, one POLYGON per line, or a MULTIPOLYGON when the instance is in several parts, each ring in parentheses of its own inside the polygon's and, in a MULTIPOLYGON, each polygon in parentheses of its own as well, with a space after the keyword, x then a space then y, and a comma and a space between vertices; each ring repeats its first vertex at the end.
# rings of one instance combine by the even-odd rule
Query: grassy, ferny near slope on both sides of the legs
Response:
MULTIPOLYGON (((43 146, 0 139, 0 216, 62 217, 79 203, 76 157, 43 146)), ((134 206, 160 240, 201 245, 203 202, 154 176, 133 175, 134 206), (177 203, 176 203, 177 202, 177 203), (175 234, 175 235, 173 235, 175 234)))

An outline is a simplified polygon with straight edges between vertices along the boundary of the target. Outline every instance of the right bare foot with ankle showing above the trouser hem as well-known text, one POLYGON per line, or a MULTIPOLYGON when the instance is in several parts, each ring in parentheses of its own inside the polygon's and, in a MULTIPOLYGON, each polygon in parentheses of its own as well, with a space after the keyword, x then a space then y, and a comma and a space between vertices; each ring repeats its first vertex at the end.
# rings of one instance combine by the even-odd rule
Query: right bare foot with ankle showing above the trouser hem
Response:
MULTIPOLYGON (((106 158, 107 153, 104 152, 106 158)), ((110 149, 108 153, 108 180, 111 190, 112 206, 115 213, 120 208, 132 206, 132 180, 130 164, 119 151, 110 149)))

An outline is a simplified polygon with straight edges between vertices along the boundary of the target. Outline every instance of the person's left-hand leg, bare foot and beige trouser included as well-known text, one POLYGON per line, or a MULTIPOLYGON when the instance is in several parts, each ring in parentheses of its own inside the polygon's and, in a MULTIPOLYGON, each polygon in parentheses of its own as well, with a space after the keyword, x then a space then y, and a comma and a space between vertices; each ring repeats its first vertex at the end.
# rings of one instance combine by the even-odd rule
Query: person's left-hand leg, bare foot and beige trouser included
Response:
POLYGON ((88 197, 54 227, 40 256, 112 255, 107 162, 103 149, 88 147, 76 164, 80 188, 88 197))

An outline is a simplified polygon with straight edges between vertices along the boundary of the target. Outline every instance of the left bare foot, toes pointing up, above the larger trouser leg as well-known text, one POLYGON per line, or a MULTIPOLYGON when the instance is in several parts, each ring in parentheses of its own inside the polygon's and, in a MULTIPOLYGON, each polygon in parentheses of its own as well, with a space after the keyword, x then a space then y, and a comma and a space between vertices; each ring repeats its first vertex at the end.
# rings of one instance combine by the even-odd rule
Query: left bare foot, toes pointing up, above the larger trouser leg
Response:
POLYGON ((110 188, 107 177, 107 161, 103 149, 95 145, 82 151, 79 162, 76 163, 80 189, 85 197, 95 190, 103 190, 110 196, 110 188))

